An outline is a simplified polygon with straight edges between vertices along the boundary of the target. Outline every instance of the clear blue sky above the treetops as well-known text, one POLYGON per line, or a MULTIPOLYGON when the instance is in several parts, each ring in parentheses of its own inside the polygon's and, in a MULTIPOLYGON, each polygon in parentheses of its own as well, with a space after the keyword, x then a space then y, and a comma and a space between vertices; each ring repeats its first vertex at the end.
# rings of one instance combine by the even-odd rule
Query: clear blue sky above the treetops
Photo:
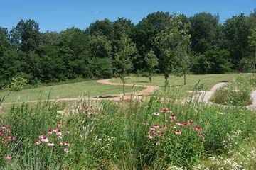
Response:
POLYGON ((219 14, 220 22, 240 13, 249 15, 256 0, 2 0, 0 26, 15 27, 21 19, 34 19, 41 32, 76 27, 85 30, 90 23, 104 18, 128 18, 137 24, 149 13, 168 11, 193 16, 208 12, 219 14))

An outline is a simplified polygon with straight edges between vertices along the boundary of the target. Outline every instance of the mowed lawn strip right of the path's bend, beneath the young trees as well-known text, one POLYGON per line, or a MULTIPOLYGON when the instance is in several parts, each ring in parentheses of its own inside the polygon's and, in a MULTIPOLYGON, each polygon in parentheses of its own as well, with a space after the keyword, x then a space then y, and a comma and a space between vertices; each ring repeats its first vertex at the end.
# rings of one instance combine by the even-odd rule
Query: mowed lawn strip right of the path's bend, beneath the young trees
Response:
MULTIPOLYGON (((208 74, 208 75, 187 75, 186 85, 183 86, 183 77, 169 77, 169 86, 182 86, 183 91, 192 90, 198 83, 204 84, 205 90, 210 90, 215 84, 222 81, 235 81, 235 79, 242 74, 208 74)), ((164 89, 164 76, 152 77, 152 82, 149 83, 149 79, 146 77, 129 77, 127 78, 127 84, 143 84, 143 85, 156 85, 160 87, 160 90, 164 89)), ((111 82, 121 83, 119 79, 112 79, 111 82)))

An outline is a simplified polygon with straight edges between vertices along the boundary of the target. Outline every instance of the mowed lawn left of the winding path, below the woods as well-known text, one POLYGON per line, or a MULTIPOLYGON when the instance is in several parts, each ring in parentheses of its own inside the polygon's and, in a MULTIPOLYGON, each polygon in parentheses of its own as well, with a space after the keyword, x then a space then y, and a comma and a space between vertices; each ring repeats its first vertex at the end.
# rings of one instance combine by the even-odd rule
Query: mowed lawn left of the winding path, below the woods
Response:
MULTIPOLYGON (((142 87, 134 87, 134 91, 142 90, 142 87)), ((126 86, 126 92, 132 91, 132 86, 126 86)), ((4 103, 18 101, 34 101, 38 99, 47 99, 50 93, 50 99, 54 98, 77 98, 87 91, 90 96, 106 96, 122 94, 122 86, 112 86, 106 84, 100 84, 96 81, 82 81, 72 84, 61 84, 55 86, 44 86, 33 89, 24 89, 20 93, 12 92, 9 96, 8 91, 1 91, 0 97, 6 96, 4 103)))

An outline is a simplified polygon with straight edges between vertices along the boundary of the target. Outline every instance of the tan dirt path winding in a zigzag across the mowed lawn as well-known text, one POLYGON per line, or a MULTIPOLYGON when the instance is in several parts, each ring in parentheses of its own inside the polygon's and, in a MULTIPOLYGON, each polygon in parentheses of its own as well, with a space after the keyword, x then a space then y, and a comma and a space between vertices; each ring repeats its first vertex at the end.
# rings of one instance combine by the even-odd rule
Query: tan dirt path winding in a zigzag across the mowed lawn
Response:
MULTIPOLYGON (((100 84, 108 84, 112 86, 120 86, 122 84, 119 83, 112 83, 110 82, 111 79, 103 79, 98 80, 97 83, 100 84)), ((125 86, 137 86, 137 87, 144 87, 142 91, 136 91, 134 92, 134 96, 145 96, 154 93, 156 89, 159 89, 159 86, 148 86, 148 85, 139 85, 139 84, 125 84, 125 86)), ((81 98, 55 98, 50 100, 36 100, 36 101, 26 101, 26 103, 36 103, 38 101, 44 102, 44 101, 78 101, 81 98)), ((123 94, 115 94, 114 97, 104 97, 104 98, 98 98, 98 97, 91 97, 90 100, 109 100, 109 101, 121 101, 121 100, 130 100, 131 99, 131 93, 126 93, 125 96, 123 94)), ((16 103, 23 103, 23 101, 18 102, 8 102, 8 103, 2 103, 4 105, 6 104, 16 104, 16 103)))

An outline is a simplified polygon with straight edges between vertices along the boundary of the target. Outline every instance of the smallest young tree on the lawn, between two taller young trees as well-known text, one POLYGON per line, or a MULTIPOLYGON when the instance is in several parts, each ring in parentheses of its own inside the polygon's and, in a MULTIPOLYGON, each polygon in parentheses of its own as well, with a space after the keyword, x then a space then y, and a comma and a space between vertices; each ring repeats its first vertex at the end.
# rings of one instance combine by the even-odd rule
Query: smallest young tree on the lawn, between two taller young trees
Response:
POLYGON ((155 71, 155 67, 159 64, 156 55, 153 50, 150 50, 145 55, 146 71, 148 72, 149 82, 151 82, 152 74, 155 71))

